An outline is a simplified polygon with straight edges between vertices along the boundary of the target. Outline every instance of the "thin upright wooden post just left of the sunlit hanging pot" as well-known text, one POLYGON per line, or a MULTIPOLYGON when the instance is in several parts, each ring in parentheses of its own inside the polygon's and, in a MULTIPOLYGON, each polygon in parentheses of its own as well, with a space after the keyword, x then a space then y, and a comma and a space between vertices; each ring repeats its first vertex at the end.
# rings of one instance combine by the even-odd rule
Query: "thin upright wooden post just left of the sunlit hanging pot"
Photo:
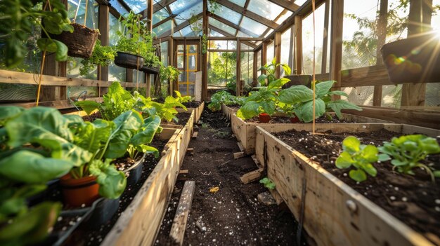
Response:
MULTIPOLYGON (((380 0, 379 20, 377 20, 377 50, 376 50, 376 64, 381 65, 382 54, 380 48, 384 46, 387 38, 387 12, 388 0, 380 0)), ((382 86, 375 86, 373 93, 373 106, 380 107, 382 104, 382 86)))

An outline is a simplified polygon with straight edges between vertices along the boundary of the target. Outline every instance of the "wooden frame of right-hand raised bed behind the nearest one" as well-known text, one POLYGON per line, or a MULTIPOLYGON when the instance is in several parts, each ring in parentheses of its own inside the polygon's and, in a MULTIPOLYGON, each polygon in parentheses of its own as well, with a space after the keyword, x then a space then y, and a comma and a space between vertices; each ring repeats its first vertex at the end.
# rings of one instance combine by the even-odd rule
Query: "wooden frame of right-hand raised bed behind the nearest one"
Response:
MULTIPOLYGON (((333 115, 334 116, 334 115, 333 115)), ((335 118, 335 116, 334 116, 335 118)), ((342 114, 342 119, 348 122, 356 123, 386 123, 387 121, 378 120, 375 118, 367 118, 363 116, 354 116, 351 114, 342 114)), ((341 125, 349 125, 352 123, 340 123, 341 125)), ((252 154, 255 152, 255 129, 257 126, 268 126, 276 129, 301 129, 302 125, 311 125, 311 123, 258 123, 258 122, 246 122, 234 113, 231 116, 232 131, 237 137, 238 141, 245 148, 245 153, 252 154)), ((339 124, 323 123, 316 125, 333 125, 337 127, 339 124)), ((319 126, 317 126, 319 128, 319 126)))

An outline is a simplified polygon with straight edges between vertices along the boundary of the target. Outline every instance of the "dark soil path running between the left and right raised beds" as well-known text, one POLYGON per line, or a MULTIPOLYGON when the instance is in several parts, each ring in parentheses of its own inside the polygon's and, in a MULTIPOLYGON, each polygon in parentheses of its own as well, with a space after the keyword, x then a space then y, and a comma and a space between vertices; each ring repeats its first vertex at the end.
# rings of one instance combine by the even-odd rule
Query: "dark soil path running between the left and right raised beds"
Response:
MULTIPOLYGON (((257 200, 267 191, 258 181, 242 184, 240 176, 256 170, 250 156, 233 159, 240 151, 229 123, 220 113, 203 111, 194 156, 186 156, 182 170, 195 181, 195 193, 183 245, 296 245, 297 222, 285 207, 266 206, 257 200), (216 193, 209 189, 219 187, 216 193)), ((265 175, 264 175, 265 176, 265 175)), ((183 189, 174 187, 156 245, 169 244, 169 231, 183 189)))

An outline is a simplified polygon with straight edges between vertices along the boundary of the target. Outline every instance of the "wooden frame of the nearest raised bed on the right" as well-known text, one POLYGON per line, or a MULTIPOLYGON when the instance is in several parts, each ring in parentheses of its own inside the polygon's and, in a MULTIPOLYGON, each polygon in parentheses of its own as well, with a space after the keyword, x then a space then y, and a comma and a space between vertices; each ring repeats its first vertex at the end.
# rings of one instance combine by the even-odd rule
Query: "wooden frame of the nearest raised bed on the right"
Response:
MULTIPOLYGON (((318 245, 433 245, 420 233, 365 198, 311 158, 271 132, 311 131, 311 125, 257 126, 256 156, 276 184, 275 193, 298 219, 304 208, 304 228, 318 245)), ((321 124, 316 132, 373 132, 436 137, 439 130, 398 124, 321 124)), ((369 177, 369 179, 372 177, 369 177)), ((384 198, 386 199, 386 198, 384 198)), ((434 216, 434 215, 432 215, 434 216)), ((409 219, 409 218, 408 218, 409 219)))

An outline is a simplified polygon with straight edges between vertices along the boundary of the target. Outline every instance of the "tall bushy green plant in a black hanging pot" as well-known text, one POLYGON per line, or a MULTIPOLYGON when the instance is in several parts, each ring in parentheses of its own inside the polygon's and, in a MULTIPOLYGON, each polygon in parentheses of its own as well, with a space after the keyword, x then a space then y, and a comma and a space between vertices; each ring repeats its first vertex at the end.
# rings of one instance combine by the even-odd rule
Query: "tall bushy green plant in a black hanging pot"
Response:
POLYGON ((141 54, 152 48, 151 43, 142 40, 145 36, 146 26, 140 18, 141 15, 136 15, 132 11, 126 18, 122 18, 122 16, 119 18, 119 22, 122 22, 124 26, 124 32, 117 32, 119 41, 116 45, 115 64, 119 67, 140 69, 145 62, 141 54))

